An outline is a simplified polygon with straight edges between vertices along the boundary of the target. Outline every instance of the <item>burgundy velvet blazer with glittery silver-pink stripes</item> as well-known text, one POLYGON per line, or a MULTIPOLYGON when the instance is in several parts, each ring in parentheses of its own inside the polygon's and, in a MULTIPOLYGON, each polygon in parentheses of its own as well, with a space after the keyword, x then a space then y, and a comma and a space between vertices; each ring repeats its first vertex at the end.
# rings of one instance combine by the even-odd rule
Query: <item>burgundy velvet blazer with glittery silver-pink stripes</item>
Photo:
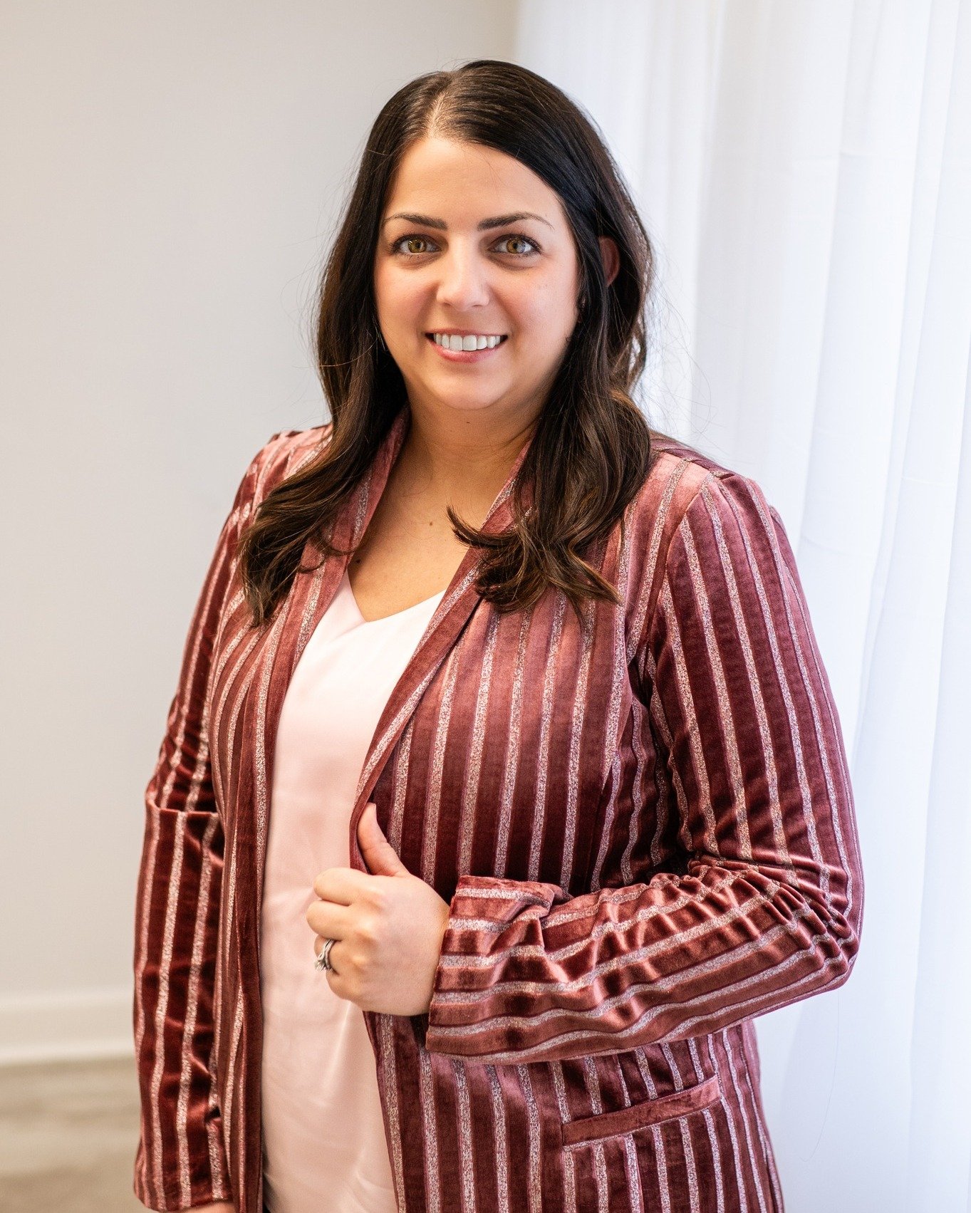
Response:
MULTIPOLYGON (((363 536, 408 421, 404 405, 339 546, 363 536)), ((299 574, 259 633, 235 553, 330 433, 274 434, 246 469, 146 790, 135 1192, 154 1209, 263 1208, 274 736, 345 558, 299 574)), ((527 449, 489 531, 510 523, 527 449)), ((303 565, 319 554, 308 541, 303 565)), ((782 1211, 753 1016, 842 985, 863 915, 840 722, 782 520, 754 480, 658 438, 591 557, 619 605, 587 602, 581 627, 547 590, 500 615, 476 559, 385 706, 350 822, 350 866, 367 871, 357 822, 374 801, 449 902, 427 1014, 362 1013, 398 1207, 782 1211)))

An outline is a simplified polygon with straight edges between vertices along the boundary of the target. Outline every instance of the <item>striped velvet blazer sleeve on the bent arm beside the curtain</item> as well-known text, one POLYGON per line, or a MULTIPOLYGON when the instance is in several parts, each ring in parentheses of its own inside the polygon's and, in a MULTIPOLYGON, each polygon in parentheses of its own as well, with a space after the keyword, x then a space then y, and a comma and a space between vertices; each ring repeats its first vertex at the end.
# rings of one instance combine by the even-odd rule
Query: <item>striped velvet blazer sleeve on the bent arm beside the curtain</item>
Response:
POLYGON ((793 551, 754 480, 710 474, 691 497, 631 678, 683 862, 572 898, 461 876, 428 1050, 494 1063, 618 1052, 848 978, 863 871, 844 740, 793 551))

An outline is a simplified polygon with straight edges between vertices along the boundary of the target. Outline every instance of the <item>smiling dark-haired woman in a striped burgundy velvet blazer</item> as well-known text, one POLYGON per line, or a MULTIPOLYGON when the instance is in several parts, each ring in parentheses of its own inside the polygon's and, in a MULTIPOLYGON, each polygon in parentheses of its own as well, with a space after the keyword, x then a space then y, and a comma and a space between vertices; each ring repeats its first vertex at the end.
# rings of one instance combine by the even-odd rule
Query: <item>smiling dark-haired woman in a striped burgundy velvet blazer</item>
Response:
POLYGON ((852 969, 853 801, 779 516, 631 402, 652 264, 540 76, 380 113, 147 790, 149 1208, 783 1208, 751 1020, 852 969))

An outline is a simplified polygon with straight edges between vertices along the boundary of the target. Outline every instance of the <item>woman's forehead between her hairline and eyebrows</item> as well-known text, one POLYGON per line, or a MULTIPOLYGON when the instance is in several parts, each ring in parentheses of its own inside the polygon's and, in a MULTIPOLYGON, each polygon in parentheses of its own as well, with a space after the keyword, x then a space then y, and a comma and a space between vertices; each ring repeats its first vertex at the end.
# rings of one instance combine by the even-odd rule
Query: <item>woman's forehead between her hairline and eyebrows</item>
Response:
POLYGON ((449 226, 534 211, 566 228, 556 190, 532 169, 495 148, 441 137, 418 139, 402 156, 382 218, 394 211, 420 211, 449 226))

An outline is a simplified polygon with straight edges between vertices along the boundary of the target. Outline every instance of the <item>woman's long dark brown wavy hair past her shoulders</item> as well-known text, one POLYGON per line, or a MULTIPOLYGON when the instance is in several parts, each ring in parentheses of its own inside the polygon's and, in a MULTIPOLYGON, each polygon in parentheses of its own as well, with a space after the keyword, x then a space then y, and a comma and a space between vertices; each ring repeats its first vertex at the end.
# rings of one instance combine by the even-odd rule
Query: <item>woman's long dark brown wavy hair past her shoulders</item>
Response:
POLYGON ((476 588, 500 611, 533 605, 549 586, 562 590, 580 617, 584 597, 619 602, 584 553, 618 519, 623 526, 651 463, 651 429, 629 393, 646 363, 654 254, 592 120, 534 72, 475 59, 399 89, 368 136, 314 318, 333 432, 318 456, 267 494, 240 539, 254 626, 285 597, 310 537, 324 557, 347 554, 331 545, 329 529, 408 402, 380 340, 374 251, 402 156, 432 135, 494 148, 532 169, 560 195, 579 261, 579 320, 512 488, 511 526, 486 535, 448 508, 455 535, 482 549, 476 588), (598 237, 613 238, 620 255, 609 286, 598 237), (524 511, 528 482, 533 508, 524 511))

